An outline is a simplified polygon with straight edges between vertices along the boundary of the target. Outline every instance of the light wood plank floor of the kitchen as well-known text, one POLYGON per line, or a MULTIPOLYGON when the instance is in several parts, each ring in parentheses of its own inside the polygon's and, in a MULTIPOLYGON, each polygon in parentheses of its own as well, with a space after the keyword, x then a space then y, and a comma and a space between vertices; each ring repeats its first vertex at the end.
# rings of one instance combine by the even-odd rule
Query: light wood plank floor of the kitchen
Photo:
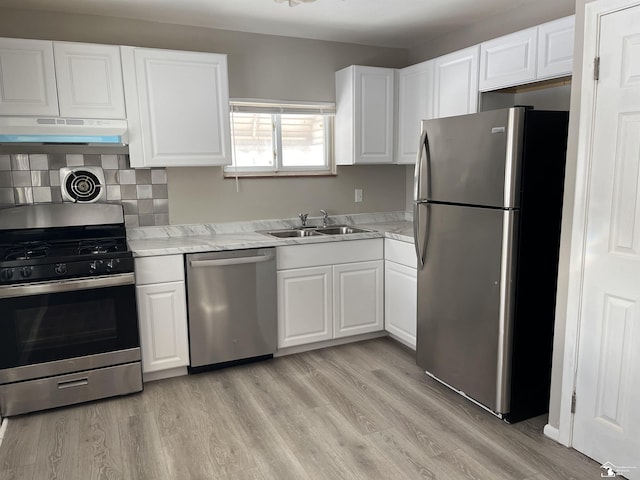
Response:
POLYGON ((600 478, 426 377, 388 338, 145 385, 13 417, 2 480, 600 478))

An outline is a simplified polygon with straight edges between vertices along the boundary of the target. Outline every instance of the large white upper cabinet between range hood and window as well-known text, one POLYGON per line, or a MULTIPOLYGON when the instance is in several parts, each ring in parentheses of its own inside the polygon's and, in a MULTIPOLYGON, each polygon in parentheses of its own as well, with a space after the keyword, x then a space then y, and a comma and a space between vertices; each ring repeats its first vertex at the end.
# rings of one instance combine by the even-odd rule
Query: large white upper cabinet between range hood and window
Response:
POLYGON ((231 163, 227 56, 122 47, 133 167, 231 163))

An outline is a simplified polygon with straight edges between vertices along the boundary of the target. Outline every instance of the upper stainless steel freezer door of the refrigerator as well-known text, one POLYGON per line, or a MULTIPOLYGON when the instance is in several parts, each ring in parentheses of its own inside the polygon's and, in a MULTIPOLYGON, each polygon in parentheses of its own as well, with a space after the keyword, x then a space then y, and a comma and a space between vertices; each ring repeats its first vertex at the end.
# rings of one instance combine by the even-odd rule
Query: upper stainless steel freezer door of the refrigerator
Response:
POLYGON ((423 120, 414 200, 517 208, 525 109, 423 120))

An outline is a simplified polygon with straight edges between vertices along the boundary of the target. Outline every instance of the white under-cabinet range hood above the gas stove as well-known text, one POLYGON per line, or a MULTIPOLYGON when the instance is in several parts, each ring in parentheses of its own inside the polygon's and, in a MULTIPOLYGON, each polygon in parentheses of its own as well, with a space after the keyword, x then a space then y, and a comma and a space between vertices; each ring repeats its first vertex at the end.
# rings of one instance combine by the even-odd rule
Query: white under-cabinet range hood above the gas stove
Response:
POLYGON ((60 117, 0 117, 0 144, 123 146, 126 120, 60 117))

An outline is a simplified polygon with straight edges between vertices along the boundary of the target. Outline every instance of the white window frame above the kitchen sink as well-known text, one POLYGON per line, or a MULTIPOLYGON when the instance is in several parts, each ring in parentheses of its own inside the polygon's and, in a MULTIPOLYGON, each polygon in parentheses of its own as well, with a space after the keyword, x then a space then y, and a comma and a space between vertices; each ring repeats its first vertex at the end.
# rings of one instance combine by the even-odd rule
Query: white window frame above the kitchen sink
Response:
POLYGON ((327 176, 336 174, 334 157, 334 125, 336 106, 334 103, 316 102, 287 102, 279 100, 258 99, 231 99, 229 101, 231 116, 231 143, 235 157, 235 139, 233 128, 234 112, 265 113, 274 115, 273 126, 273 166, 238 167, 233 164, 224 167, 225 177, 277 177, 277 176, 327 176), (325 115, 324 152, 325 165, 323 166, 284 166, 282 164, 282 126, 280 114, 311 114, 325 115))

